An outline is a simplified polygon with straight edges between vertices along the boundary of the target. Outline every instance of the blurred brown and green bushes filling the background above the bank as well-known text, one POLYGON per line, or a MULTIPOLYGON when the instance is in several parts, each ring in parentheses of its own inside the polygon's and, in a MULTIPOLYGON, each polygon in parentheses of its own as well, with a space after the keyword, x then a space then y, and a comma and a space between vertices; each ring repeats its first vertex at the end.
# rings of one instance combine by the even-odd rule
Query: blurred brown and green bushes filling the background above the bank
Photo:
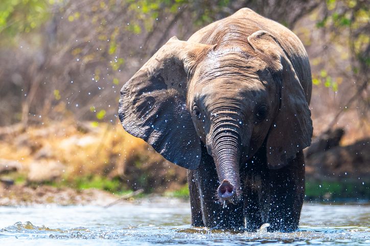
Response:
MULTIPOLYGON (((369 136, 370 14, 365 0, 2 0, 0 126, 24 131, 67 119, 121 134, 123 129, 116 133, 115 127, 125 81, 172 36, 187 40, 242 7, 284 24, 304 43, 313 75, 314 135, 343 126, 349 132, 346 144, 369 136)), ((9 151, 17 148, 8 146, 9 151)), ((0 154, 8 155, 4 149, 0 154)), ((103 172, 104 163, 123 161, 118 153, 112 156, 87 162, 100 161, 103 172)), ((131 166, 137 168, 138 159, 130 160, 131 166)), ((78 161, 87 165, 85 159, 78 161)))

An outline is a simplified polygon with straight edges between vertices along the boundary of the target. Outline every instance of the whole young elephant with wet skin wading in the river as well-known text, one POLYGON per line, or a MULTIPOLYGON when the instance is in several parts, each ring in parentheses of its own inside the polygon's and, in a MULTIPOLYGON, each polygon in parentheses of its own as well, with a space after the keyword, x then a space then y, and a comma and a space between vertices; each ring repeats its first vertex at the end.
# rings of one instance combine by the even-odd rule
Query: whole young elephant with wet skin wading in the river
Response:
POLYGON ((192 226, 298 228, 310 146, 307 52, 243 8, 172 37, 122 87, 124 129, 188 169, 192 226))

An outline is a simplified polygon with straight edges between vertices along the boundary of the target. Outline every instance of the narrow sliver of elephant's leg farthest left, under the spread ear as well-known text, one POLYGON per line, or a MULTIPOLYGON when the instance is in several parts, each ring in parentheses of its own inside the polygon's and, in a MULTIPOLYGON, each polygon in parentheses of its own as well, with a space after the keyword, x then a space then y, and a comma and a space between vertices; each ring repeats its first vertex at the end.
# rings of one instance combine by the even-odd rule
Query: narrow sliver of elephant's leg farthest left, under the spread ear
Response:
POLYGON ((190 206, 192 210, 192 226, 204 226, 202 208, 200 204, 199 189, 197 187, 198 177, 196 171, 188 170, 188 184, 190 195, 190 206))

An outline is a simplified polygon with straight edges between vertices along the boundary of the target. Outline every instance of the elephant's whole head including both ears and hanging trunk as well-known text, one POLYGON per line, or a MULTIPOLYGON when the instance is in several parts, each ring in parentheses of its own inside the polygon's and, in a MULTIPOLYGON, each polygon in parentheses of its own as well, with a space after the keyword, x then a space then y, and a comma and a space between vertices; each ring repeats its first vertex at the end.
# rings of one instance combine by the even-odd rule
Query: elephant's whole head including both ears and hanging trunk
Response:
POLYGON ((199 167, 202 142, 217 194, 232 202, 241 153, 252 157, 266 143, 268 167, 286 166, 311 143, 310 114, 284 48, 263 31, 237 47, 171 38, 123 86, 119 106, 127 132, 181 167, 199 167))

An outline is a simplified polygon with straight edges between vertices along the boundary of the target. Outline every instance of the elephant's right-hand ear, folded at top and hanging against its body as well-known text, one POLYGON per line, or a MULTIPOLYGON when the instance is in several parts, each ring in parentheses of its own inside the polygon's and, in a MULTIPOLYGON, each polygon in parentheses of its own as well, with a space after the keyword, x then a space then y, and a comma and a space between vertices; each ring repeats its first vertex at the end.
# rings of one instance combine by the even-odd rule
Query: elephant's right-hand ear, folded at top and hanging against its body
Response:
POLYGON ((279 41, 265 31, 253 33, 248 41, 262 53, 280 84, 280 106, 266 142, 267 165, 279 169, 294 159, 298 151, 311 145, 311 111, 289 55, 279 41))

